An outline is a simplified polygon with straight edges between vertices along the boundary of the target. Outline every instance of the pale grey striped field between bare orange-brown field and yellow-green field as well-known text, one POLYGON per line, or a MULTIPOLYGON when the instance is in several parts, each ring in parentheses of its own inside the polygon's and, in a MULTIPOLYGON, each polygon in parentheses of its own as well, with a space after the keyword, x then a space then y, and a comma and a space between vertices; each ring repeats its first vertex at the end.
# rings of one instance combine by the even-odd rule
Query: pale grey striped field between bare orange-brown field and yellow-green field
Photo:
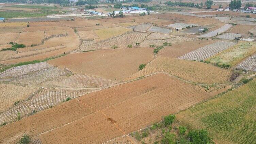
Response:
POLYGON ((212 44, 208 44, 207 46, 194 50, 190 53, 187 53, 179 57, 179 59, 189 59, 189 60, 197 60, 197 61, 204 60, 223 50, 228 49, 231 46, 234 46, 235 44, 236 44, 235 42, 218 41, 212 44))

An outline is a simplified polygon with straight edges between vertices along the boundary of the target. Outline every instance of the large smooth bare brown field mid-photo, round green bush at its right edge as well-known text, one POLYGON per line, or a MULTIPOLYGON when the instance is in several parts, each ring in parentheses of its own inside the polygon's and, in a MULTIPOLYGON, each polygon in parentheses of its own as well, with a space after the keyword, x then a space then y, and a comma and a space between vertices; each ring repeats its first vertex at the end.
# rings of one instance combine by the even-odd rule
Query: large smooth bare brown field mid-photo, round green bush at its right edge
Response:
POLYGON ((122 80, 137 72, 140 64, 153 60, 152 51, 151 48, 98 50, 69 54, 48 63, 78 74, 122 80))

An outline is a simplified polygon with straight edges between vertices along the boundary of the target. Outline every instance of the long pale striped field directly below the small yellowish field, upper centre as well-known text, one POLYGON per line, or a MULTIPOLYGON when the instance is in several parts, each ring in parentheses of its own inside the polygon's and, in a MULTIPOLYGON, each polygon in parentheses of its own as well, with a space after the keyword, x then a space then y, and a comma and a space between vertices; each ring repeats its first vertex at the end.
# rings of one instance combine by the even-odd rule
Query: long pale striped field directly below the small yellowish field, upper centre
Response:
POLYGON ((88 51, 88 50, 98 50, 98 49, 109 49, 113 46, 126 48, 128 44, 132 44, 132 46, 136 46, 136 42, 141 43, 145 37, 149 34, 140 33, 140 32, 130 32, 118 37, 114 37, 108 40, 99 41, 93 43, 89 47, 80 47, 81 50, 88 51), (122 42, 120 42, 122 41, 122 42))

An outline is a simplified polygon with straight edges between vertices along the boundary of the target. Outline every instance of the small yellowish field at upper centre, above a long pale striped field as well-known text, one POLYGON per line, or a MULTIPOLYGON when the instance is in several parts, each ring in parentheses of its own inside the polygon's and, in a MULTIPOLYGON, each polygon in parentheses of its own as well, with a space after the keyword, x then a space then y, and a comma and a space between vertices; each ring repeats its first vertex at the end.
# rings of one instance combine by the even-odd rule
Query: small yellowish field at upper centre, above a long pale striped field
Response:
POLYGON ((132 30, 127 28, 122 28, 122 27, 114 27, 114 28, 95 30, 94 32, 96 33, 96 35, 99 37, 100 40, 103 40, 103 39, 121 35, 129 31, 132 31, 132 30))

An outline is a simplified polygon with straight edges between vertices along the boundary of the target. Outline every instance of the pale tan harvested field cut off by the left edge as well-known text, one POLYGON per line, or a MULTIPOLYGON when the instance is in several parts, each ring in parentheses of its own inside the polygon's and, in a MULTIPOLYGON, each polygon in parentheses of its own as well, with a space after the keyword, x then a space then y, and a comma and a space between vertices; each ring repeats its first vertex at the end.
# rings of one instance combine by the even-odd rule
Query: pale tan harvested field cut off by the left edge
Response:
POLYGON ((0 112, 14 106, 14 102, 25 100, 35 91, 31 87, 0 84, 0 112))

